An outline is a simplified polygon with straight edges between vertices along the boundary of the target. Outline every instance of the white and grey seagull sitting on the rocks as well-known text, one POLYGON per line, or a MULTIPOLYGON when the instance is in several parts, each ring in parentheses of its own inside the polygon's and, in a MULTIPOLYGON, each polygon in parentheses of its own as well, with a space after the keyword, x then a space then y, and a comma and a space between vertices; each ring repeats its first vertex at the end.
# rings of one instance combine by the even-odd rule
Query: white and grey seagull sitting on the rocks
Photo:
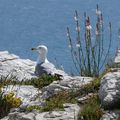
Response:
POLYGON ((67 75, 64 71, 56 69, 55 65, 48 61, 48 48, 45 45, 39 45, 31 49, 38 52, 39 56, 35 67, 35 75, 41 76, 43 74, 57 75, 59 77, 67 75))

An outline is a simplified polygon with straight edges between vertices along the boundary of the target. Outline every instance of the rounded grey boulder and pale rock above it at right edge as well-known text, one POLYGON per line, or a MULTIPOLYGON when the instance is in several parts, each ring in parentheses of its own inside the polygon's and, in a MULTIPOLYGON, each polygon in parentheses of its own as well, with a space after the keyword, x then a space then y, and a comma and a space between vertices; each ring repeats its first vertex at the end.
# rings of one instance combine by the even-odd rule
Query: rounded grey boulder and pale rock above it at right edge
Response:
POLYGON ((112 109, 120 104, 120 49, 114 61, 114 68, 101 80, 99 97, 104 108, 112 109))

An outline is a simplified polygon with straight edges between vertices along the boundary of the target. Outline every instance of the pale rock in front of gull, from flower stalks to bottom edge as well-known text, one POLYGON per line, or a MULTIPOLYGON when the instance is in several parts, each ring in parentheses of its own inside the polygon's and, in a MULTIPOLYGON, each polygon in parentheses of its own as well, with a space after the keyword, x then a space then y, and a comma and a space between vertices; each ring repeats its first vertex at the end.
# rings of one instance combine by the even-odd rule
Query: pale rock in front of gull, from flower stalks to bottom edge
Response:
MULTIPOLYGON (((54 81, 49 86, 41 90, 33 86, 7 86, 3 89, 6 93, 13 91, 17 97, 22 99, 20 108, 11 109, 9 115, 1 120, 77 120, 80 107, 77 104, 63 104, 64 111, 42 112, 32 111, 29 113, 22 112, 28 106, 39 105, 44 106, 46 98, 56 94, 59 91, 78 89, 79 87, 89 83, 92 78, 89 77, 66 77, 60 81, 54 81), (37 97, 36 97, 37 96, 37 97)), ((53 101, 54 103, 54 101, 53 101)))

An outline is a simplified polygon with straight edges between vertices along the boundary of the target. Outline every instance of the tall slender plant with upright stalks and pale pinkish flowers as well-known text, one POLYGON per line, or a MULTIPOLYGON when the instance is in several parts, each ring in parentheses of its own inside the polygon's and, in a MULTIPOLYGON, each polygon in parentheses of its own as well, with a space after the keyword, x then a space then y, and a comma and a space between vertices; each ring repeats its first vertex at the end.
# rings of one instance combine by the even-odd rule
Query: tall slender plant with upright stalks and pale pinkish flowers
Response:
POLYGON ((90 23, 90 17, 84 13, 84 34, 81 34, 81 26, 79 22, 79 16, 77 11, 75 11, 75 23, 76 23, 76 47, 74 47, 73 40, 70 34, 70 29, 67 27, 67 37, 69 41, 69 47, 71 51, 71 56, 73 63, 77 72, 82 76, 99 76, 101 70, 103 70, 105 63, 109 57, 110 48, 111 48, 111 37, 112 29, 111 23, 109 23, 109 40, 108 49, 104 44, 104 29, 103 29, 103 15, 99 10, 97 5, 96 9, 96 33, 91 35, 92 27, 90 23), (84 35, 84 36, 82 36, 84 35), (94 38, 94 39, 93 39, 94 38))

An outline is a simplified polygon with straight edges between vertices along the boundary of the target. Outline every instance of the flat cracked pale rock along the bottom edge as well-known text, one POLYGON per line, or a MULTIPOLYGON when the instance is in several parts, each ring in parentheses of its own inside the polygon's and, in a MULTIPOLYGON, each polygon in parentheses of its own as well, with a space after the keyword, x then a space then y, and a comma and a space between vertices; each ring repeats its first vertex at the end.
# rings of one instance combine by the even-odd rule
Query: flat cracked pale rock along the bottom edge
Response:
POLYGON ((13 112, 1 120, 77 120, 77 114, 80 107, 77 104, 64 104, 65 111, 42 112, 37 111, 30 113, 13 112))

